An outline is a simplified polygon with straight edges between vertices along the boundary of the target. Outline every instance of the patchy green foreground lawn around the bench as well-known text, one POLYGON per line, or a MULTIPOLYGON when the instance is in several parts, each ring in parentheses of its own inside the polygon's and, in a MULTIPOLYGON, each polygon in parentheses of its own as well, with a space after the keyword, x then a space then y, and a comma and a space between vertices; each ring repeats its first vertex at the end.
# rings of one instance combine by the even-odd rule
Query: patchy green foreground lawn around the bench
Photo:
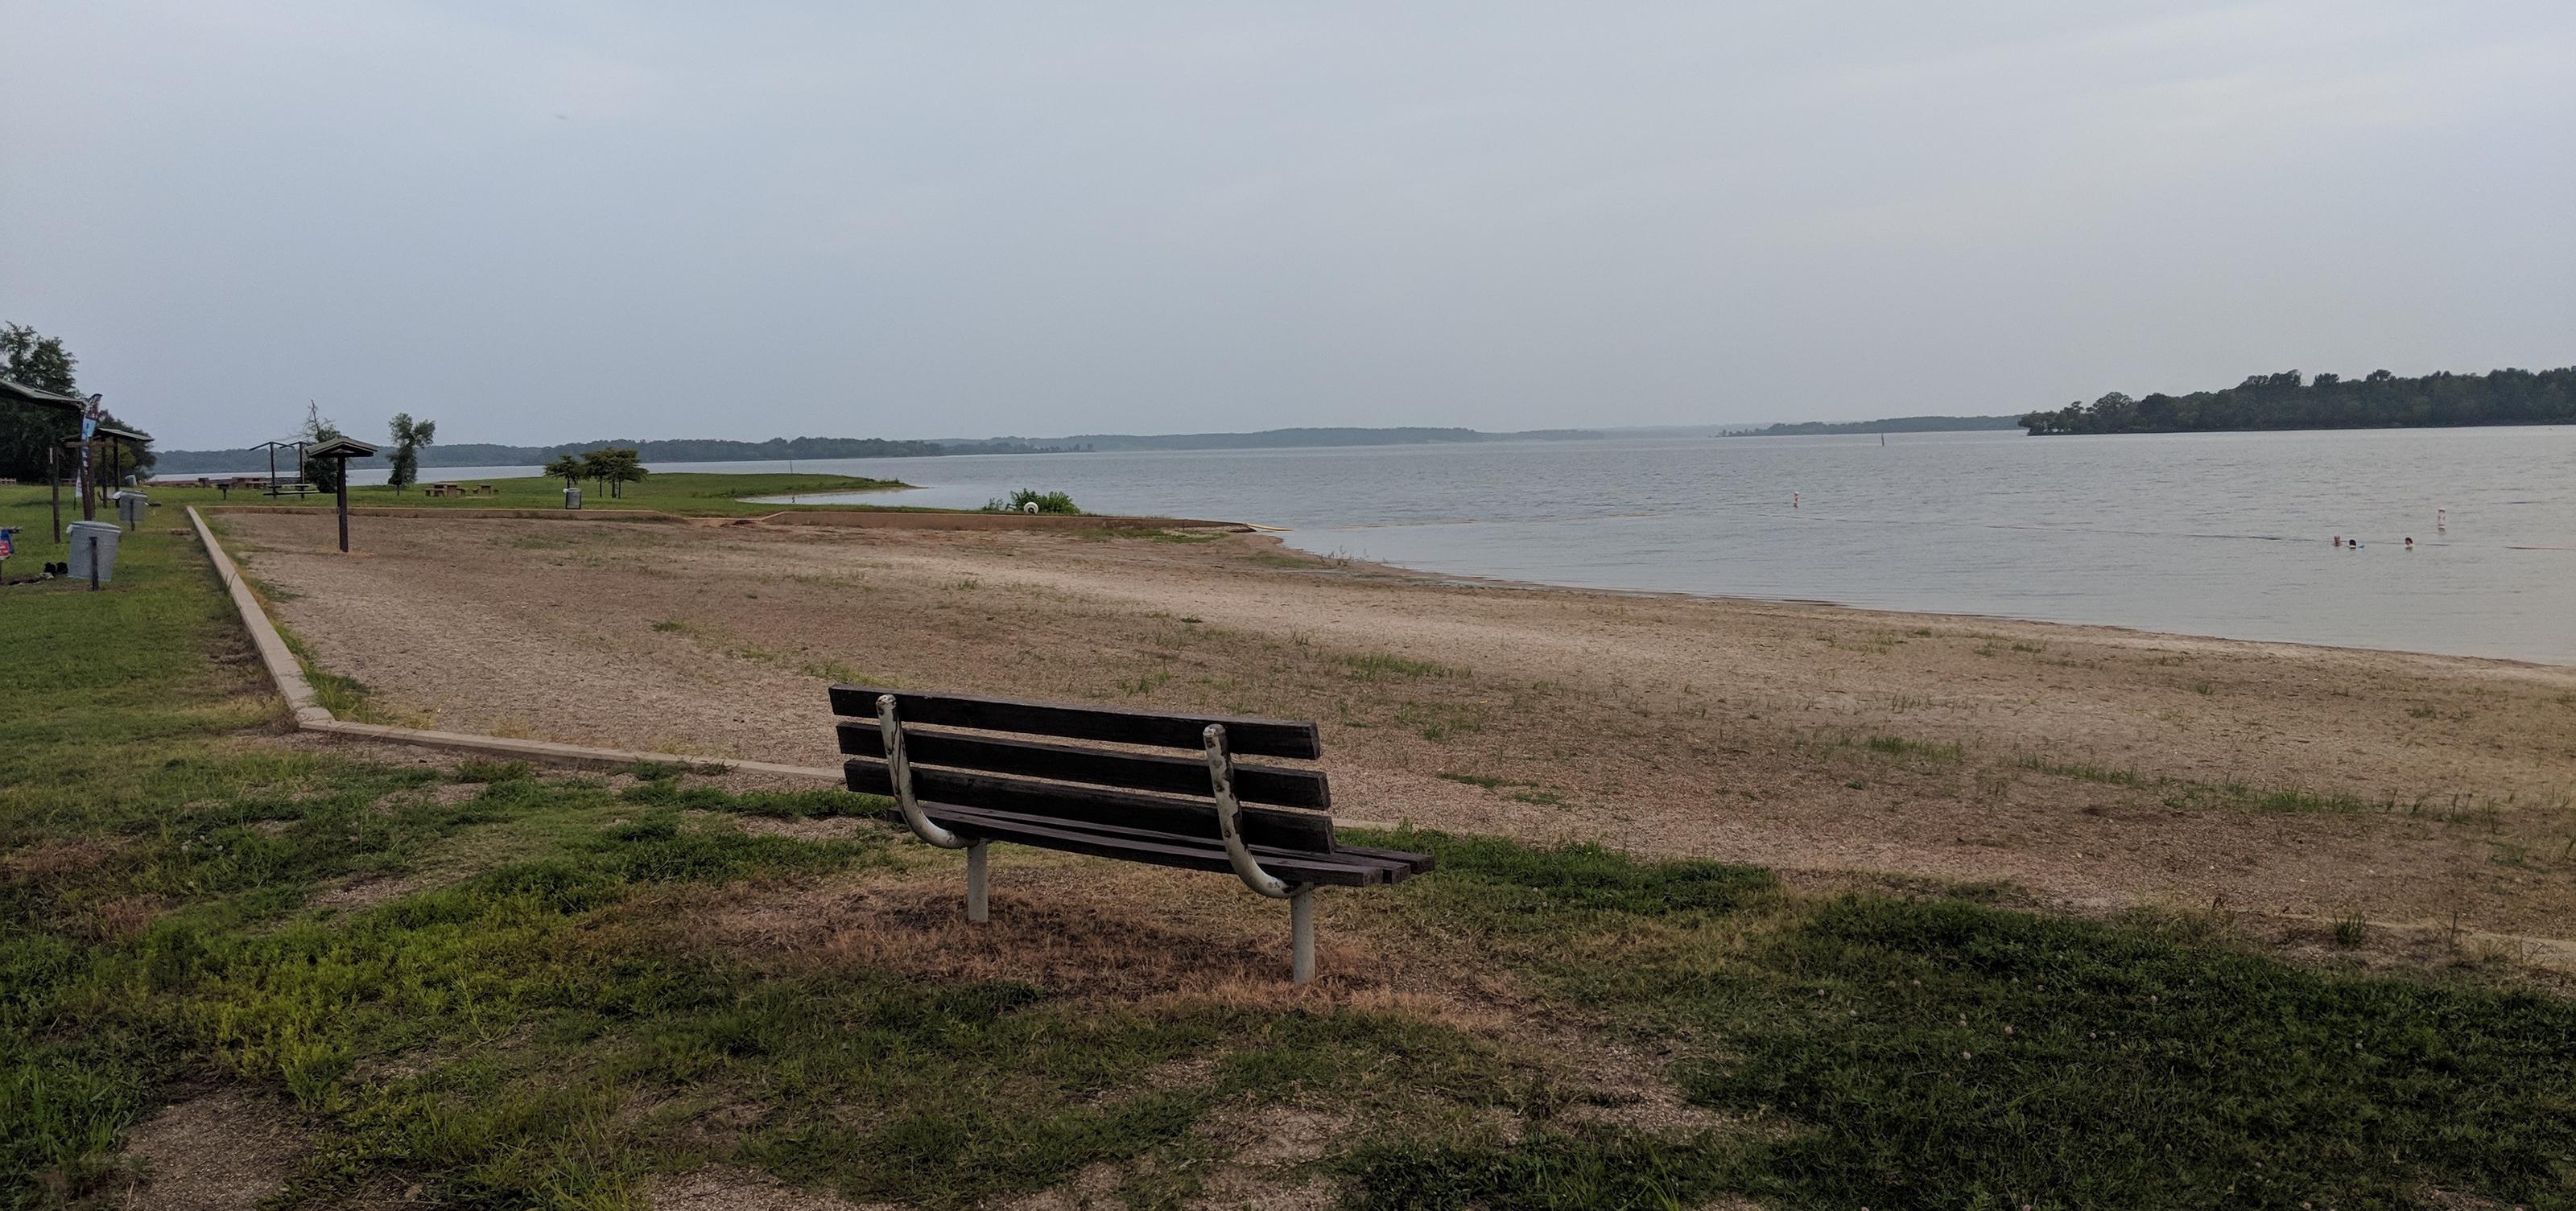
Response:
POLYGON ((701 946, 747 897, 945 904, 953 858, 804 830, 876 806, 840 791, 268 745, 173 528, 106 593, 0 590, 8 1208, 124 1206, 129 1131, 211 1087, 307 1136, 281 1208, 641 1208, 701 1165, 927 1208, 1244 1172, 1363 1208, 2576 1206, 2576 1002, 2287 966, 2223 920, 1417 832, 1373 840, 1440 873, 1337 897, 1327 940, 1466 992, 1103 997, 701 946), (1610 1054, 1669 1113, 1592 1080, 1610 1054), (1285 1111, 1329 1139, 1239 1167, 1216 1123, 1285 1111))

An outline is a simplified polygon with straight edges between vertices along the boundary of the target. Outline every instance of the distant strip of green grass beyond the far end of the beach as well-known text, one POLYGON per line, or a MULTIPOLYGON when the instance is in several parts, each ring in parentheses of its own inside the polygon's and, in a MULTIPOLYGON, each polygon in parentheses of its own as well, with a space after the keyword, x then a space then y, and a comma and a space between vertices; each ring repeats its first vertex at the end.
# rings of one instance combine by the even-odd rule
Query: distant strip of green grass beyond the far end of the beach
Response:
MULTIPOLYGON (((422 472, 422 482, 440 482, 433 469, 422 472)), ((564 482, 549 477, 531 479, 456 479, 461 484, 482 487, 492 484, 500 495, 489 497, 430 497, 420 492, 420 484, 392 490, 384 484, 353 484, 348 490, 348 502, 355 505, 399 505, 399 508, 564 508, 564 482)), ((783 497, 799 492, 894 492, 909 487, 899 479, 863 479, 850 474, 786 474, 786 472, 750 472, 750 474, 706 474, 706 472, 665 472, 649 474, 634 484, 626 484, 621 497, 608 497, 598 484, 582 482, 582 508, 641 508, 659 513, 680 513, 698 518, 729 518, 729 515, 760 515, 781 513, 788 508, 853 508, 853 505, 755 505, 744 497, 783 497)), ((255 490, 232 490, 229 495, 214 487, 152 487, 147 490, 157 505, 309 505, 330 508, 335 500, 322 492, 312 497, 265 497, 255 490)), ((899 500, 899 497, 889 497, 899 500)))

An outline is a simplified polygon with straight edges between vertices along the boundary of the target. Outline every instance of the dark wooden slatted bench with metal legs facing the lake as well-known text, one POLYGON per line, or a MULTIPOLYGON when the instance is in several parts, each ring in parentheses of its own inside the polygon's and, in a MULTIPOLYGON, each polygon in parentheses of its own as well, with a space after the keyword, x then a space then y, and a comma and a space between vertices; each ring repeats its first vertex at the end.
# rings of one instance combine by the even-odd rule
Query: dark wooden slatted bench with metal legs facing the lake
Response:
POLYGON ((1015 698, 832 685, 848 786, 894 799, 914 837, 966 850, 966 920, 987 920, 994 840, 1185 871, 1231 871, 1288 902, 1291 979, 1314 979, 1314 889, 1399 884, 1427 853, 1332 837, 1324 770, 1236 765, 1234 755, 1324 755, 1314 724, 1149 714, 1015 698), (1048 739, 1023 739, 1048 737, 1048 739), (1097 739, 1190 758, 1059 745, 1097 739), (1275 804, 1275 806, 1244 806, 1275 804))

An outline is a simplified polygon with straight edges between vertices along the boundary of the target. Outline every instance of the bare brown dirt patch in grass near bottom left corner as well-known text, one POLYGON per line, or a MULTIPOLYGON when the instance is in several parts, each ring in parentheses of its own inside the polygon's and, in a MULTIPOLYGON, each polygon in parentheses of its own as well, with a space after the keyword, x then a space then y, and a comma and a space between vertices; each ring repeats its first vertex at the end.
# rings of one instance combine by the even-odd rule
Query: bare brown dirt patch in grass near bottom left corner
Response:
POLYGON ((255 1211, 294 1175, 304 1129, 281 1105, 227 1087, 147 1118, 124 1157, 139 1167, 126 1208, 255 1211))

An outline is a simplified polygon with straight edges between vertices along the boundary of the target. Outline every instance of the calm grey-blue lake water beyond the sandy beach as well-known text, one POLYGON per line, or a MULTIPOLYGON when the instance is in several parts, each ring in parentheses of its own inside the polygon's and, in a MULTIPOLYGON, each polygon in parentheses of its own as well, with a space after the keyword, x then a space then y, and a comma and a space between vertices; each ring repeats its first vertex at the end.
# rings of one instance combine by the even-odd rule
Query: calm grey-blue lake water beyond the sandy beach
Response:
POLYGON ((1288 526, 1291 546, 1427 572, 2576 665, 2576 425, 1896 433, 1886 446, 1613 438, 796 469, 922 484, 876 502, 974 508, 1038 487, 1095 513, 1288 526), (2362 546, 2336 549, 2334 536, 2362 546))

